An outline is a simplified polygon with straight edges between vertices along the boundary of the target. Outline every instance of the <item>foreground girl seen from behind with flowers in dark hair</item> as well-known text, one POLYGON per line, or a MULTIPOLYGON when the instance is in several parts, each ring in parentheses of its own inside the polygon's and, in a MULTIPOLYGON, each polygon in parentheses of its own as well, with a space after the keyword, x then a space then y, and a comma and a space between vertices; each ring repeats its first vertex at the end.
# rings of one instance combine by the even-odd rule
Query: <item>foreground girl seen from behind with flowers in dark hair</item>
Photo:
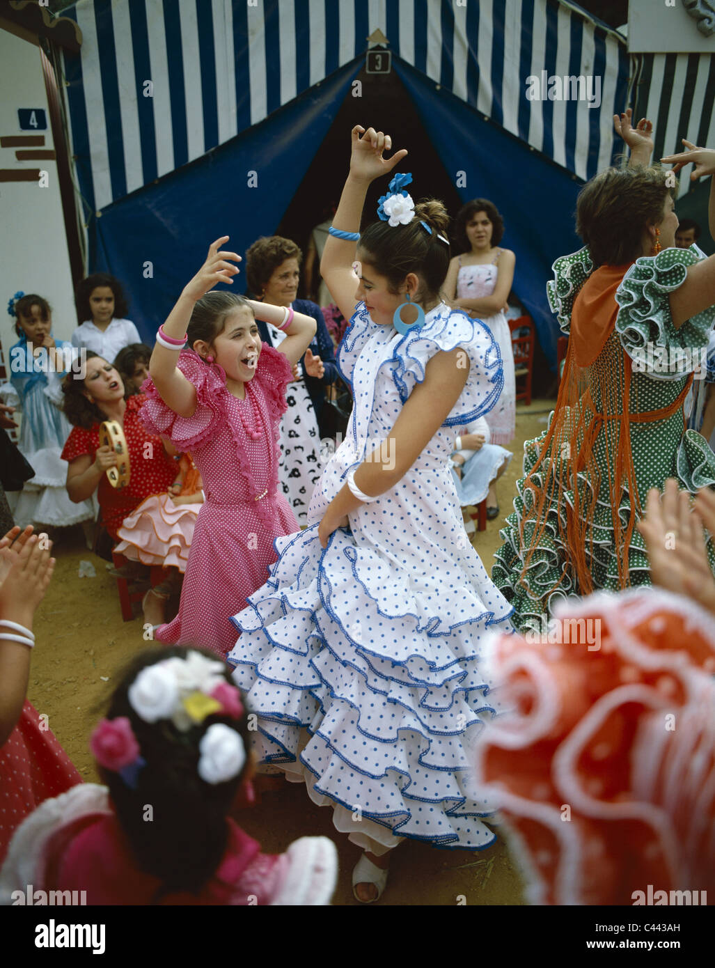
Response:
POLYGON ((192 649, 143 652, 90 748, 105 786, 82 784, 24 821, 0 903, 27 884, 86 892, 88 904, 329 903, 332 841, 302 837, 284 854, 261 854, 229 816, 252 801, 253 764, 223 662, 192 649))

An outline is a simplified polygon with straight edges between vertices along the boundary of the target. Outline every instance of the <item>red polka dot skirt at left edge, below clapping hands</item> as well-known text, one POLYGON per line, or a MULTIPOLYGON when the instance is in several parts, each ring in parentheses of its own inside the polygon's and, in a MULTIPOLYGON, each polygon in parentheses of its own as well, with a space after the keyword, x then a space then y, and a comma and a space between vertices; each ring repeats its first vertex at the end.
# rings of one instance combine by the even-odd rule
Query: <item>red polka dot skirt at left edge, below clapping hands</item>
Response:
POLYGON ((10 739, 0 748, 0 863, 15 828, 50 797, 58 797, 82 777, 45 720, 28 700, 10 739))

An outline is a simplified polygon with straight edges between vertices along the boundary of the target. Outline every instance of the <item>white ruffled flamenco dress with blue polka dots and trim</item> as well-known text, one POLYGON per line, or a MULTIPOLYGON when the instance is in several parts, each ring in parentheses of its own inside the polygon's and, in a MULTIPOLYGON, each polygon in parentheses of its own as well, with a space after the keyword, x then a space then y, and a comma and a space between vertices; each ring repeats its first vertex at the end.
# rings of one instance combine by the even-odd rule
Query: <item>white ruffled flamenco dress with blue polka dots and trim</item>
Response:
POLYGON ((228 661, 258 715, 255 753, 305 781, 363 848, 384 853, 401 837, 484 848, 494 834, 480 817, 492 811, 466 777, 469 750, 498 711, 481 640, 488 628, 511 631, 512 609, 466 539, 448 458, 456 428, 498 400, 499 350, 484 323, 443 303, 405 336, 359 303, 338 364, 354 408, 313 493, 311 525, 277 538, 269 581, 233 619, 241 636, 228 661), (319 522, 348 470, 388 437, 430 358, 458 347, 469 375, 445 424, 402 480, 321 548, 319 522))

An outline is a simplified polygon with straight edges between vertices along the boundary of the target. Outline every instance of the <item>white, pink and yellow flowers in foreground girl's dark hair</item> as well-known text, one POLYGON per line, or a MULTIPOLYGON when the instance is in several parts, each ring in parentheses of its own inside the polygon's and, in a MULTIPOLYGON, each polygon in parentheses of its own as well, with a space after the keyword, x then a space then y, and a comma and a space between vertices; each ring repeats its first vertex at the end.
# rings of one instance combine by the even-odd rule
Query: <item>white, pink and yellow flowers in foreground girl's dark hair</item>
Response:
MULTIPOLYGON (((235 685, 225 681, 223 670, 223 662, 197 651, 188 652, 186 658, 164 659, 142 669, 136 676, 127 692, 130 705, 144 722, 168 719, 180 734, 200 725, 207 716, 225 715, 240 719, 244 714, 241 693, 235 685)), ((138 771, 146 766, 146 762, 139 756, 138 742, 129 720, 126 724, 131 736, 127 739, 118 729, 117 724, 123 725, 120 719, 103 719, 90 745, 105 769, 119 772, 135 789, 138 771), (125 749, 128 746, 131 750, 125 749)), ((209 726, 198 749, 197 772, 206 783, 224 783, 237 776, 246 765, 244 741, 225 723, 209 726)))

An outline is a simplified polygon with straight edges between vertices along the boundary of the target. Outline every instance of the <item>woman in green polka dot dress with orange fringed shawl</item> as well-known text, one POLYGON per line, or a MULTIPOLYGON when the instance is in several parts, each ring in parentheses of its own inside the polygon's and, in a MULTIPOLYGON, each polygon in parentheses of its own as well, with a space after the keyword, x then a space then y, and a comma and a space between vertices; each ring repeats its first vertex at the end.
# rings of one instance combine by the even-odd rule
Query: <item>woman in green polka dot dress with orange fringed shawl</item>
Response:
MULTIPOLYGON (((524 444, 514 513, 492 581, 520 630, 544 628, 556 601, 650 585, 638 529, 649 488, 715 487, 715 455, 685 430, 683 402, 715 321, 715 257, 675 249, 674 179, 647 167, 652 126, 615 118, 631 146, 581 190, 580 252, 556 259, 548 292, 569 349, 549 428, 524 444)), ((688 144, 688 142, 686 142, 688 144)), ((689 147, 693 147, 688 145, 689 147)), ((664 161, 715 172, 715 151, 664 161)), ((715 185, 715 179, 713 183, 715 185)), ((710 192, 715 232, 715 188, 710 192)), ((708 556, 715 571, 713 540, 708 556)))

